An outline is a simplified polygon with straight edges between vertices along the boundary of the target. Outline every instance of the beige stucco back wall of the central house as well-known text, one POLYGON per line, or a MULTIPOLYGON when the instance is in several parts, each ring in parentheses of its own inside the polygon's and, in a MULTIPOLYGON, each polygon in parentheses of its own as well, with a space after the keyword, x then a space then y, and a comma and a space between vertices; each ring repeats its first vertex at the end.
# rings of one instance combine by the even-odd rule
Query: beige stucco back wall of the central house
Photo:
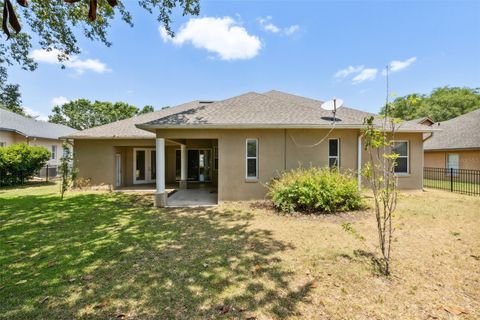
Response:
MULTIPOLYGON (((178 139, 187 147, 212 147, 218 139, 219 200, 262 199, 266 194, 265 183, 285 169, 328 164, 328 138, 340 139, 340 168, 357 170, 357 143, 359 130, 334 130, 329 137, 318 143, 328 130, 313 129, 257 129, 257 130, 158 130, 157 136, 178 139), (257 181, 245 179, 245 140, 258 139, 259 163, 257 181)), ((422 134, 397 134, 396 139, 408 140, 409 173, 399 177, 402 189, 422 188, 422 134)), ((168 141, 167 141, 168 142, 168 141)), ((154 147, 154 140, 76 140, 75 158, 79 175, 92 179, 93 184, 115 184, 115 153, 122 154, 123 185, 133 180, 133 147, 154 147)), ((179 146, 168 143, 165 155, 166 183, 175 183, 175 149, 179 146)), ((362 162, 367 155, 363 151, 362 162)))

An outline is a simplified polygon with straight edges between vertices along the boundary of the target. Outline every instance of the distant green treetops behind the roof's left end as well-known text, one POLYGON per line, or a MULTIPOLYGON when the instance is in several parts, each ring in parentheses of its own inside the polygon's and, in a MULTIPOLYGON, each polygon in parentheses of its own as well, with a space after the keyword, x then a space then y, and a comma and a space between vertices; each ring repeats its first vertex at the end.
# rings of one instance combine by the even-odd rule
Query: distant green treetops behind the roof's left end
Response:
POLYGON ((53 107, 48 121, 84 130, 152 111, 151 106, 138 109, 125 102, 91 102, 87 99, 78 99, 53 107))

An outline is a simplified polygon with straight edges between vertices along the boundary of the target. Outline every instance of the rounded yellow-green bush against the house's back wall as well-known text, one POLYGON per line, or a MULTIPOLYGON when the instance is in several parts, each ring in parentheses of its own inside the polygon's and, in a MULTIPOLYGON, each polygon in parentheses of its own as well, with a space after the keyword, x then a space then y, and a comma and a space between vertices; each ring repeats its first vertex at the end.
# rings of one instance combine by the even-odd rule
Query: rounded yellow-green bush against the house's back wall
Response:
POLYGON ((268 185, 273 204, 282 212, 333 213, 363 206, 355 177, 328 168, 299 168, 268 185))

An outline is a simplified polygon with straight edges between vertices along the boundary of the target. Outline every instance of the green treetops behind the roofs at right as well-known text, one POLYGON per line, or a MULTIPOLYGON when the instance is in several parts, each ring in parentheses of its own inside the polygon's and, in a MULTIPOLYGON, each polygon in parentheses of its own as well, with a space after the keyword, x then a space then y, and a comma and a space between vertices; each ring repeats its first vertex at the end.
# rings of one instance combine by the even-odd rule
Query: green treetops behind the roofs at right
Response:
MULTIPOLYGON (((409 94, 396 98, 389 108, 391 117, 403 120, 430 117, 445 121, 480 108, 480 88, 442 87, 430 95, 409 94)), ((384 107, 381 114, 385 113, 384 107)))

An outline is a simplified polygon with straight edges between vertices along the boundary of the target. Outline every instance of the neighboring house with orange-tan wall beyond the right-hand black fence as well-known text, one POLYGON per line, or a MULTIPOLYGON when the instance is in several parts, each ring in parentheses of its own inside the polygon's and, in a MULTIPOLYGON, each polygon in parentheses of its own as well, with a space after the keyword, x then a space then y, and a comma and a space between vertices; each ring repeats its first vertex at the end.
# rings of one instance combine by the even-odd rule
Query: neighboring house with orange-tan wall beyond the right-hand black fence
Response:
POLYGON ((480 109, 435 123, 425 142, 425 167, 480 170, 480 109))

